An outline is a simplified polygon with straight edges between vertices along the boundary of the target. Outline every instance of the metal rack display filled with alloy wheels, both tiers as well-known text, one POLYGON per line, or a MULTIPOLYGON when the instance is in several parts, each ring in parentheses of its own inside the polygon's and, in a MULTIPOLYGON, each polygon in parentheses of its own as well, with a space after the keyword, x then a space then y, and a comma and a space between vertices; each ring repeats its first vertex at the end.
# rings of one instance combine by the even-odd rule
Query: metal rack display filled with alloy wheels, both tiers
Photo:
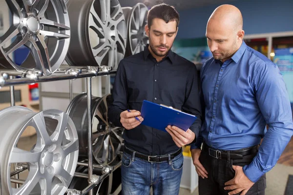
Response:
MULTIPOLYGON (((143 3, 122 8, 119 0, 3 2, 12 21, 8 28, 4 25, 4 34, 0 34, 0 88, 115 74, 122 59, 143 51, 148 43, 148 8, 143 3), (108 67, 113 71, 105 71, 108 67), (77 74, 75 69, 81 71, 77 74)), ((88 124, 90 79, 86 85, 87 93, 73 99, 75 94, 70 88, 72 101, 66 112, 34 112, 14 106, 20 105, 14 99, 18 92, 10 89, 11 107, 0 110, 0 195, 74 194, 89 185, 85 174, 91 179, 97 178, 92 174, 103 176, 102 183, 90 181, 97 184, 94 194, 121 194, 124 128, 108 119, 111 94, 91 97, 92 122, 88 124), (27 128, 36 130, 36 142, 24 150, 18 142, 27 128), (93 160, 88 157, 89 133, 93 160), (88 167, 95 167, 93 173, 88 167)), ((42 100, 32 103, 42 105, 42 100)))

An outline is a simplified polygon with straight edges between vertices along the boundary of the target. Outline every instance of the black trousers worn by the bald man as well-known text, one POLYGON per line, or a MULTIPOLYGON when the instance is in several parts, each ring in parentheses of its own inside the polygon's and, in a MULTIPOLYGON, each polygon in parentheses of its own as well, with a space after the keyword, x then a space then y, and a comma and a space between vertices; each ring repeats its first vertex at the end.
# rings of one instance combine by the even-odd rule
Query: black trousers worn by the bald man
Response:
MULTIPOLYGON (((207 170, 209 178, 199 176, 199 195, 228 195, 230 190, 224 190, 225 183, 235 176, 232 165, 244 166, 251 163, 255 154, 243 156, 243 159, 217 159, 209 156, 209 150, 205 147, 199 157, 199 161, 207 170)), ((253 184, 246 195, 265 195, 266 175, 263 175, 253 184)), ((240 195, 238 193, 237 195, 240 195)))

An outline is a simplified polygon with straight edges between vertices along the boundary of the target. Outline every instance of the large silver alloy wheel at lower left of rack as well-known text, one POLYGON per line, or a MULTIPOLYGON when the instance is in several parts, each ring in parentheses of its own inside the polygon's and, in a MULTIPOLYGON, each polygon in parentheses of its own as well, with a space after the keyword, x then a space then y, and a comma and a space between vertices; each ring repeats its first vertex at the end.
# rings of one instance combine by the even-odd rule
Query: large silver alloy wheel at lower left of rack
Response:
POLYGON ((75 173, 78 136, 72 120, 62 111, 32 110, 14 106, 0 111, 1 190, 10 195, 63 195, 75 173), (31 151, 17 147, 26 127, 37 132, 31 151), (20 188, 10 184, 10 166, 27 163, 29 174, 20 188))

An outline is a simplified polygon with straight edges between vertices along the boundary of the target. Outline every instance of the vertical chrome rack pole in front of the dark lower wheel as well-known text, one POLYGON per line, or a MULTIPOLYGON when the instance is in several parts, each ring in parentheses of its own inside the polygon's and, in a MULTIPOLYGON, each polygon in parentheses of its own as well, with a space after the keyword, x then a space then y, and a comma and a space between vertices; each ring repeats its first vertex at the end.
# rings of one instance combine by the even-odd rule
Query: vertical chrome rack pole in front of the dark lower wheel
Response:
MULTIPOLYGON (((87 118, 88 118, 88 139, 87 139, 87 149, 88 149, 88 183, 91 184, 91 179, 93 175, 93 159, 92 159, 92 119, 91 119, 91 78, 86 78, 86 92, 87 92, 87 118)), ((90 190, 89 195, 93 195, 94 191, 90 190)))

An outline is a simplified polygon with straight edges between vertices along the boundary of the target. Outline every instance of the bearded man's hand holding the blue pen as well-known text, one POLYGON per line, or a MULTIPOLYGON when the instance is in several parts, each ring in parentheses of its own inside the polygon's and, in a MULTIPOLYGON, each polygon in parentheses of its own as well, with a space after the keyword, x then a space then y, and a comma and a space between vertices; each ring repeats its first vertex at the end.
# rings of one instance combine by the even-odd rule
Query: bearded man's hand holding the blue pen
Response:
POLYGON ((143 117, 140 116, 141 113, 137 110, 130 110, 130 113, 126 110, 120 114, 120 122, 124 128, 127 130, 133 129, 140 125, 140 123, 144 120, 143 117), (138 121, 135 117, 138 117, 140 121, 138 121))

